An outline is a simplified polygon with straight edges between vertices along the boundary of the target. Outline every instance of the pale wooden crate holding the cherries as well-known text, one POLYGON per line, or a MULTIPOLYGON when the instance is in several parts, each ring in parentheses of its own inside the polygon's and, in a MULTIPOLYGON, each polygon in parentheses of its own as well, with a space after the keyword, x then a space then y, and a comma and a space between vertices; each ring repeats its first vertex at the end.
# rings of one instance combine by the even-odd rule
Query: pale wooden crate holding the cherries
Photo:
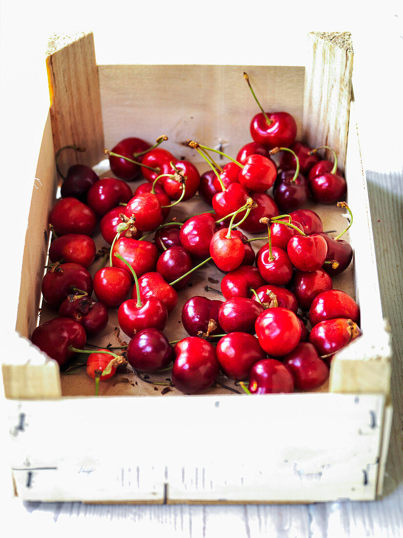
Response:
MULTIPOLYGON (((308 39, 306 68, 97 66, 91 33, 51 43, 51 108, 25 238, 15 353, 3 363, 12 476, 21 498, 310 502, 382 494, 392 416, 391 349, 351 102, 351 37, 311 33, 308 39), (77 158, 95 166, 104 147, 122 138, 152 141, 167 133, 165 147, 198 166, 198 155, 183 145, 187 138, 221 143, 235 156, 250 141, 256 113, 244 70, 266 109, 296 117, 298 139, 330 145, 339 155, 355 214, 350 229, 355 257, 334 287, 355 294, 363 336, 334 357, 325 392, 241 398, 214 388, 190 397, 122 382, 92 397, 85 374, 61 381, 57 363, 27 339, 37 324, 47 218, 57 187, 55 151, 64 144, 84 145, 87 152, 68 155, 69 164, 77 158)), ((103 165, 97 169, 105 171, 103 165)), ((203 211, 201 202, 192 203, 203 211)), ((325 226, 335 220, 343 226, 340 211, 323 206, 318 213, 325 226)), ((205 267, 186 297, 198 294, 207 275, 220 273, 205 267)), ((184 335, 177 324, 182 305, 181 300, 171 314, 170 337, 184 335)))

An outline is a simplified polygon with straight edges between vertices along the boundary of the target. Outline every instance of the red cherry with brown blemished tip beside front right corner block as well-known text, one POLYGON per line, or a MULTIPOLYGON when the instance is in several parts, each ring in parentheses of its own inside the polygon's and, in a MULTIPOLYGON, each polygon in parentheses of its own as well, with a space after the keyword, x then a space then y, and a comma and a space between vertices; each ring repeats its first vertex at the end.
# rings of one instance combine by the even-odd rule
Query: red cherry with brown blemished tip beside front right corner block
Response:
POLYGON ((316 324, 310 332, 309 341, 315 346, 319 356, 329 364, 334 353, 361 334, 354 321, 339 317, 316 324))

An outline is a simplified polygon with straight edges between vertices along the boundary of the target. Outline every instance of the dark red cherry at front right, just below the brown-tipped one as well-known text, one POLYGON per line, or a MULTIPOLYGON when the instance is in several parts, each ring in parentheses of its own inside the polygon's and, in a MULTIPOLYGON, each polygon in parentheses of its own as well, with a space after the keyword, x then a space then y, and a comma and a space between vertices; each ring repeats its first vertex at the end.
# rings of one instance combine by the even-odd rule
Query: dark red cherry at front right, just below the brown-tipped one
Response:
POLYGON ((283 357, 283 364, 287 366, 294 378, 294 387, 300 391, 312 391, 318 388, 329 377, 329 369, 319 357, 315 347, 302 342, 290 353, 283 357))

